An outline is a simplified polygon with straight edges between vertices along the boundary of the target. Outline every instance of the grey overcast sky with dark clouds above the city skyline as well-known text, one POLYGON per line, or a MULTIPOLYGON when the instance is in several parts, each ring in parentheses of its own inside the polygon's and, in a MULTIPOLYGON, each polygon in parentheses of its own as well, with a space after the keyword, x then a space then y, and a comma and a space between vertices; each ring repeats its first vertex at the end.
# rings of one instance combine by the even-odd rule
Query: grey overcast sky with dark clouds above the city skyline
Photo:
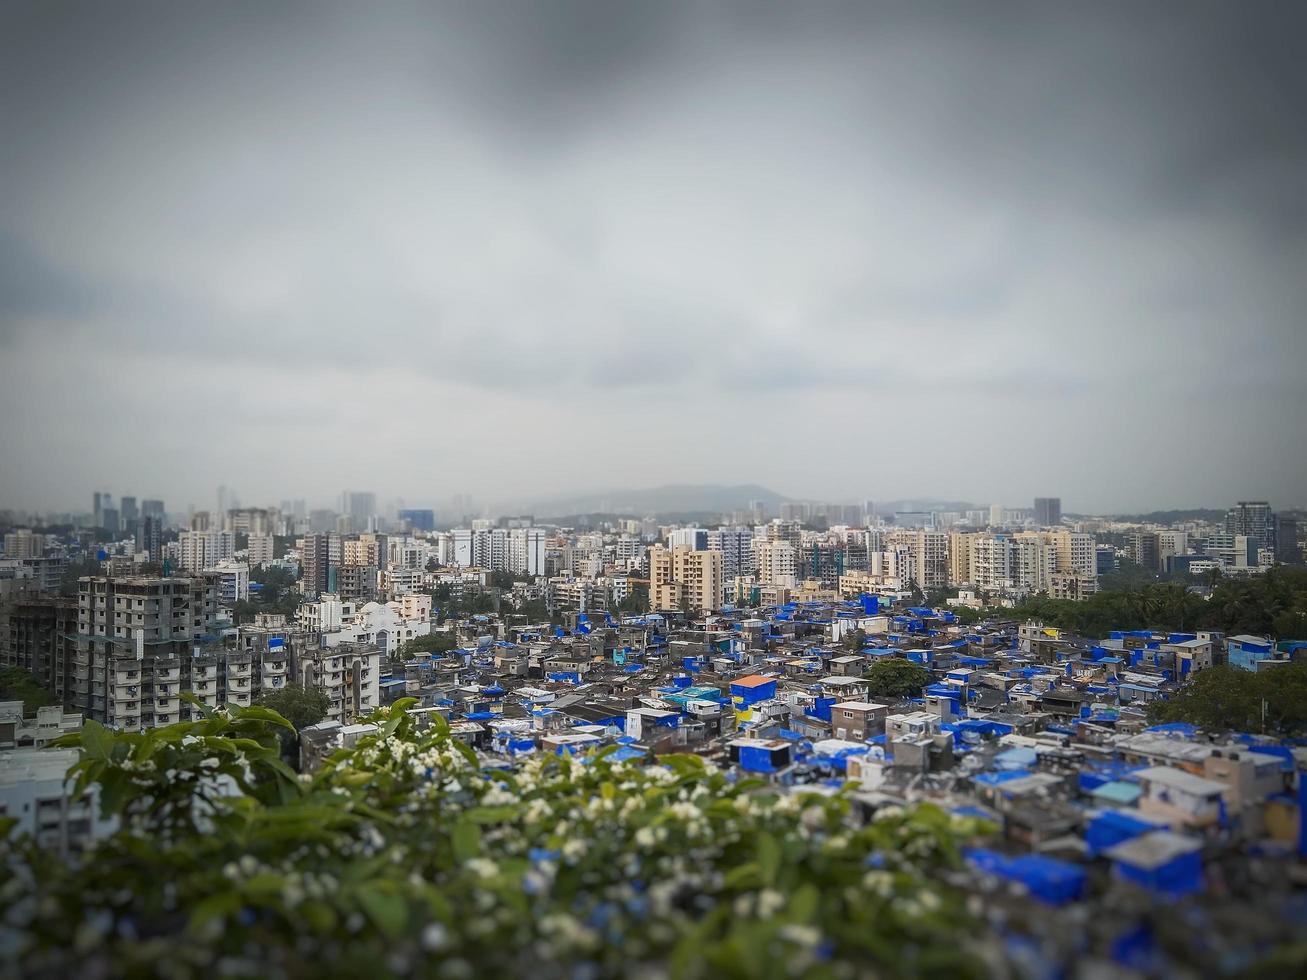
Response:
POLYGON ((1307 503, 1299 3, 0 4, 0 506, 1307 503))

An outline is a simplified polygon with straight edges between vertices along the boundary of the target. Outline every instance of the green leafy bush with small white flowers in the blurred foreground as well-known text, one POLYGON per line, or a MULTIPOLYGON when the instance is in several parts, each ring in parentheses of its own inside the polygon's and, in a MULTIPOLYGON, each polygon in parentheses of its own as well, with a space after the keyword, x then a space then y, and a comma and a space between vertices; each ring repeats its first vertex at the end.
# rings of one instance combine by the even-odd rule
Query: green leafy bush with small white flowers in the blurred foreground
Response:
POLYGON ((980 972, 935 874, 958 828, 920 806, 656 764, 481 763, 405 703, 314 776, 280 716, 145 734, 88 724, 74 775, 122 826, 78 864, 0 844, 0 956, 24 975, 766 976, 980 972))

